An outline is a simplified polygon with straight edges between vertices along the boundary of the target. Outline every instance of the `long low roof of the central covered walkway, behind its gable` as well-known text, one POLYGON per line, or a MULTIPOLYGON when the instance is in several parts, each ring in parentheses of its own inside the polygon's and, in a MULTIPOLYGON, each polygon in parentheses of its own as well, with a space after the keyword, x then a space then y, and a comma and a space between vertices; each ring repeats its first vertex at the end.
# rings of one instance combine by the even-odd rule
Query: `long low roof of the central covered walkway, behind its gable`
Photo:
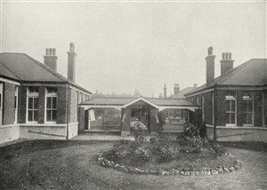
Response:
MULTIPOLYGON (((125 106, 135 99, 140 98, 94 98, 82 102, 82 105, 91 105, 91 106, 125 106)), ((156 98, 142 98, 147 99, 152 104, 157 105, 158 107, 197 107, 186 99, 156 99, 156 98)))

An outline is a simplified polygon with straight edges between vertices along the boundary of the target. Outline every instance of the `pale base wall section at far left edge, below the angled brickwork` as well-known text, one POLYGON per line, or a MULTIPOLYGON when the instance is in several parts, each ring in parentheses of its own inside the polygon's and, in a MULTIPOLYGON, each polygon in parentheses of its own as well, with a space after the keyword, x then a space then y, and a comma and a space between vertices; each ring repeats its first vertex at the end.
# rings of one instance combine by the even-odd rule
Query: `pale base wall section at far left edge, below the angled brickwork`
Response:
POLYGON ((18 124, 3 125, 0 127, 0 144, 20 138, 18 124))

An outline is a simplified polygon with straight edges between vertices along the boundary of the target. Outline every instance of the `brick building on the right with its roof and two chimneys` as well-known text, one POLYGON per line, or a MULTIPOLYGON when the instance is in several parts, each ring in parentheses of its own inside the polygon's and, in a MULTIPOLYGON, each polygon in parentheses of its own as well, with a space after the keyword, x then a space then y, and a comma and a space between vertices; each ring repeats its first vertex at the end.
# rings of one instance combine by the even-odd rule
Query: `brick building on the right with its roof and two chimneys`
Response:
POLYGON ((221 75, 214 78, 213 48, 206 57, 206 83, 185 94, 201 107, 209 139, 267 142, 267 59, 250 59, 233 67, 223 52, 221 75), (216 128, 214 128, 216 126, 216 128))

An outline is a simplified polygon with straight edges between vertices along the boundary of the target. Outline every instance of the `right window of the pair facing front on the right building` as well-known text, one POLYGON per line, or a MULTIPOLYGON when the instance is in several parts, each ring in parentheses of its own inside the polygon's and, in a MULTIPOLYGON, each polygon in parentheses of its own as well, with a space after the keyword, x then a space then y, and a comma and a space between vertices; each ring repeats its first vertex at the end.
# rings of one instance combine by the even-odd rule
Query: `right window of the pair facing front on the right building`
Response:
POLYGON ((242 99, 242 119, 244 125, 254 124, 254 106, 253 94, 249 92, 243 93, 242 99))

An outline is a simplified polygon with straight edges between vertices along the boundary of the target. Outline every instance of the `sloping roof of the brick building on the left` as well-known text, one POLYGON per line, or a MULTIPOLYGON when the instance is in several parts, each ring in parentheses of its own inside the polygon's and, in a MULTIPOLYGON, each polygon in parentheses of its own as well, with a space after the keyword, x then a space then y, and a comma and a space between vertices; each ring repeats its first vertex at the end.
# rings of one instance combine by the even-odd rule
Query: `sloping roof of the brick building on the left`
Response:
POLYGON ((25 53, 0 53, 0 63, 0 75, 7 78, 26 83, 69 83, 77 89, 92 93, 25 53))

